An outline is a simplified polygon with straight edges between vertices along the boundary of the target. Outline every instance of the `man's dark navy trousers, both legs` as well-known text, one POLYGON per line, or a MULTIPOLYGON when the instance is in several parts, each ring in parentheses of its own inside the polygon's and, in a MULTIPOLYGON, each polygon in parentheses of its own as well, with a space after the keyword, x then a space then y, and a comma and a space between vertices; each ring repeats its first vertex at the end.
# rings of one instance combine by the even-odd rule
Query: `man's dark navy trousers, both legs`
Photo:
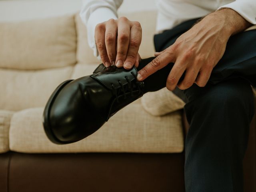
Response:
MULTIPOLYGON (((155 35, 156 51, 173 44, 195 21, 155 35)), ((186 102, 190 124, 185 142, 186 192, 243 191, 242 160, 254 115, 255 42, 256 30, 232 36, 205 87, 194 84, 174 90, 186 102)))

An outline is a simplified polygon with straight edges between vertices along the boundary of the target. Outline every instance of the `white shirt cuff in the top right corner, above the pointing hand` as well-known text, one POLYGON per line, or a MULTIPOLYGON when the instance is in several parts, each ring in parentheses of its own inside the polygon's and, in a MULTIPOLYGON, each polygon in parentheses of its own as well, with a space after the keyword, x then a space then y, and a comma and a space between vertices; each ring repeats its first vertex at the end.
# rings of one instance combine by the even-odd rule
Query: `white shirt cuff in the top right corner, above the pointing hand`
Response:
POLYGON ((221 6, 220 8, 231 8, 238 12, 248 22, 254 25, 256 24, 256 0, 236 0, 221 6))

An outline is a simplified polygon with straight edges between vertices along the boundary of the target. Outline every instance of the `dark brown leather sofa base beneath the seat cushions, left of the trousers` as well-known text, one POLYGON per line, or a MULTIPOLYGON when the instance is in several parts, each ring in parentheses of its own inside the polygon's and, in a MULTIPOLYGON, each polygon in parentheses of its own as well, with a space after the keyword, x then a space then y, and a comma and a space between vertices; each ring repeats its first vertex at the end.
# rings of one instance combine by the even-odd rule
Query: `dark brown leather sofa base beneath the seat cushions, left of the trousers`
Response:
POLYGON ((1 192, 185 191, 183 153, 8 152, 0 163, 1 192))

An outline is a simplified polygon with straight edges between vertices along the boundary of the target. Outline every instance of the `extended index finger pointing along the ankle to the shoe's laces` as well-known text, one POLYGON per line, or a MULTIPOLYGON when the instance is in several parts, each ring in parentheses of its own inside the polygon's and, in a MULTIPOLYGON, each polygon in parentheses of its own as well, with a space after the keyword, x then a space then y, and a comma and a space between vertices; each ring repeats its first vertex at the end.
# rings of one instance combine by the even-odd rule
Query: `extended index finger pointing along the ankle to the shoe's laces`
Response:
POLYGON ((146 79, 148 76, 152 75, 154 72, 162 69, 163 67, 165 67, 173 61, 174 54, 170 52, 164 52, 160 54, 138 72, 137 80, 142 81, 146 79))

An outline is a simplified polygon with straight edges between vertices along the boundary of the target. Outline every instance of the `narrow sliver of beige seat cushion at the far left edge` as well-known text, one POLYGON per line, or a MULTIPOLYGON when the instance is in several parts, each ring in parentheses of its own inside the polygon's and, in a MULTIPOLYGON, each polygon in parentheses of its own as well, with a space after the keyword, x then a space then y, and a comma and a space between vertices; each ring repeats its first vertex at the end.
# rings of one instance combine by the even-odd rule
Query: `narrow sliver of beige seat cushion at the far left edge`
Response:
POLYGON ((0 110, 0 153, 9 150, 9 127, 13 112, 0 110))

